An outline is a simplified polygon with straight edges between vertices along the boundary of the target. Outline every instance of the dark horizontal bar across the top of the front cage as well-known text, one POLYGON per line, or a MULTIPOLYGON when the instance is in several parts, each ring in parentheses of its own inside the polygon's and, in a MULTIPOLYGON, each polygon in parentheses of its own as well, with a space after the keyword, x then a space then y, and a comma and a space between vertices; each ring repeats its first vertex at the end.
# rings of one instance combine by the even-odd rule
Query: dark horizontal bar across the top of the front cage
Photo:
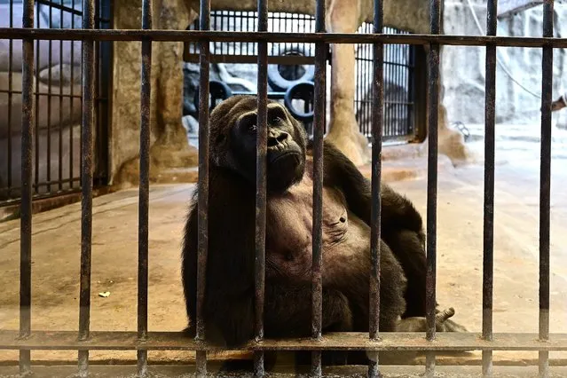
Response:
POLYGON ((493 35, 420 35, 420 34, 352 34, 352 33, 271 33, 227 32, 201 30, 140 30, 140 29, 77 29, 70 33, 61 29, 0 28, 0 39, 42 39, 79 41, 152 41, 169 42, 270 42, 270 43, 385 43, 385 44, 450 44, 458 46, 567 48, 567 38, 493 36, 493 35))

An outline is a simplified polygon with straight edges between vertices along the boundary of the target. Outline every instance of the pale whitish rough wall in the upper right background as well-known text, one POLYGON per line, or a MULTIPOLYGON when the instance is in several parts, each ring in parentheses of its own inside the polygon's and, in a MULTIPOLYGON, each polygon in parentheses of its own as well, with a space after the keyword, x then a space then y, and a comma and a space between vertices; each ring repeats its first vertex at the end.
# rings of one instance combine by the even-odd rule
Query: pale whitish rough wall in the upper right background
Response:
MULTIPOLYGON (((471 0, 476 16, 486 29, 486 1, 471 0)), ((537 6, 498 21, 498 35, 541 36, 543 7, 537 6)), ((445 34, 479 35, 467 0, 445 1, 445 34)), ((567 1, 555 1, 555 36, 567 37, 567 1)), ((567 90, 567 56, 564 49, 554 51, 553 98, 567 90)), ((541 49, 500 47, 498 59, 504 63, 516 82, 535 95, 541 94, 541 49)), ((444 104, 449 122, 484 123, 484 47, 445 46, 442 55, 444 104)), ((540 98, 514 83, 497 64, 496 122, 539 122, 540 98)), ((554 114, 556 122, 565 115, 554 114)))

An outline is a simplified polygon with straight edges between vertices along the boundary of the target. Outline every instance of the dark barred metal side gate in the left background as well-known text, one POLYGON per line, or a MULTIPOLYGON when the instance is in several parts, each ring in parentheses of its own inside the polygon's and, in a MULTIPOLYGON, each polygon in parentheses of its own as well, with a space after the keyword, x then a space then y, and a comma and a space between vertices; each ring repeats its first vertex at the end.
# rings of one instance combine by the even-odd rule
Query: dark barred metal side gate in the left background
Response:
MULTIPOLYGON (((24 3, 20 1, 20 3, 24 3)), ((80 23, 76 18, 83 17, 83 11, 79 6, 81 0, 71 0, 71 4, 66 4, 67 1, 64 0, 38 0, 35 2, 36 10, 45 10, 48 13, 40 14, 40 12, 35 12, 35 22, 37 28, 53 28, 58 30, 64 30, 69 32, 70 29, 75 29, 81 27, 80 23), (59 20, 54 20, 59 15, 59 20), (64 20, 69 17, 70 20, 64 20), (46 25, 46 26, 44 26, 46 25)), ((9 12, 5 15, 10 19, 9 23, 13 26, 13 10, 16 8, 14 6, 15 2, 13 0, 8 0, 9 12)), ((96 0, 94 22, 95 28, 109 29, 113 26, 113 14, 112 14, 112 1, 111 0, 96 0)), ((3 15, 4 17, 4 15, 3 15)), ((68 131, 69 140, 64 140, 63 137, 63 127, 66 126, 62 123, 61 118, 63 114, 75 114, 74 111, 74 101, 82 101, 82 93, 77 93, 74 91, 75 80, 78 79, 79 83, 81 77, 76 77, 74 75, 74 68, 79 65, 74 61, 75 54, 78 49, 75 44, 70 45, 69 51, 66 53, 71 54, 71 84, 70 91, 68 94, 63 93, 63 69, 59 69, 59 75, 52 74, 51 66, 56 63, 64 64, 64 45, 65 39, 59 40, 45 40, 42 38, 37 38, 35 40, 35 119, 40 117, 40 114, 46 112, 47 116, 47 139, 44 143, 40 143, 37 123, 35 123, 35 174, 34 174, 34 199, 43 199, 52 196, 58 196, 68 193, 78 193, 81 191, 81 175, 76 174, 76 167, 74 164, 75 154, 82 155, 81 151, 74 152, 74 132, 73 124, 70 124, 68 131), (47 64, 49 66, 49 77, 47 79, 47 91, 41 91, 39 87, 40 83, 40 56, 47 50, 47 64), (59 54, 57 51, 59 50, 59 54), (43 51, 43 53, 42 53, 43 51), (59 84, 52 82, 52 76, 59 77, 59 84), (59 123, 53 122, 52 119, 57 117, 55 110, 52 110, 53 99, 56 98, 59 102, 59 123), (47 101, 43 103, 43 106, 37 106, 40 101, 47 101), (67 107, 63 110, 64 107, 67 107), (52 143, 51 139, 57 139, 57 143, 52 143), (64 159, 63 144, 69 143, 69 157, 68 161, 64 159), (54 146, 52 146, 54 145, 54 146), (55 148, 58 148, 56 151, 55 148), (46 155, 45 155, 46 154, 46 155), (51 174, 51 154, 58 155, 58 161, 56 163, 58 173, 54 177, 51 174), (40 161, 46 161, 45 167, 40 166, 40 161), (63 174, 63 169, 68 169, 68 175, 63 174), (41 176, 45 176, 42 179, 41 176)), ((19 95, 20 91, 14 91, 12 75, 16 71, 13 68, 12 63, 12 51, 13 51, 13 41, 9 41, 9 51, 8 51, 8 75, 9 75, 9 88, 7 91, 0 90, 7 94, 8 97, 8 112, 6 114, 6 119, 8 122, 8 138, 7 138, 7 148, 5 154, 7 154, 7 159, 4 159, 1 164, 7 165, 7 180, 4 183, 0 182, 0 206, 12 205, 20 201, 20 186, 12 184, 12 149, 19 148, 19 146, 13 146, 12 143, 12 101, 14 95, 19 95)), ((108 181, 108 130, 109 124, 111 122, 111 96, 110 89, 112 88, 112 42, 100 41, 95 43, 95 74, 96 75, 96 89, 94 93, 94 106, 95 106, 95 127, 96 127, 96 139, 94 141, 94 154, 96 155, 96 165, 94 167, 94 185, 101 186, 106 185, 108 181)), ((75 106, 76 109, 76 106, 75 106)), ((81 111, 79 109, 78 114, 81 111)), ((4 157, 4 152, 0 153, 4 157)))

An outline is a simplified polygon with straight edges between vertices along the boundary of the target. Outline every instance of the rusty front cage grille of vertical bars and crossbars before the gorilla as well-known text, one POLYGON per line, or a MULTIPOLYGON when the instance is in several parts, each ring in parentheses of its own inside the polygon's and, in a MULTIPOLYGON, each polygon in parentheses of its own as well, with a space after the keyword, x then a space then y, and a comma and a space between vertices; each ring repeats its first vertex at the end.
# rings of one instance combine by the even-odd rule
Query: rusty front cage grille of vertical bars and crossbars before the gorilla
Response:
MULTIPOLYGON (((197 374, 207 371, 207 353, 215 348, 205 343, 205 327, 202 317, 204 300, 205 269, 208 251, 207 211, 209 190, 209 41, 248 41, 258 46, 258 138, 256 166, 256 338, 244 347, 255 351, 255 374, 264 374, 264 350, 312 350, 312 374, 321 375, 321 350, 422 350, 427 352, 426 374, 433 376, 436 366, 436 351, 482 350, 485 376, 492 374, 492 350, 539 350, 539 374, 549 375, 550 350, 567 350, 567 335, 549 334, 549 201, 551 161, 551 90, 552 58, 555 47, 567 47, 567 39, 553 38, 554 1, 544 4, 544 28, 542 37, 496 36, 497 1, 487 4, 487 35, 439 35, 440 0, 430 0, 429 35, 385 35, 382 34, 382 0, 374 1, 374 33, 368 35, 325 33, 325 1, 317 1, 315 33, 270 34, 267 28, 267 1, 258 0, 258 31, 247 33, 225 33, 209 31, 210 0, 201 0, 201 31, 152 30, 152 0, 143 0, 143 21, 140 30, 95 30, 95 1, 83 0, 85 4, 83 29, 39 30, 33 28, 33 0, 26 1, 23 28, 2 28, 0 38, 23 39, 23 139, 22 177, 24 191, 21 201, 20 227, 20 332, 1 331, 0 349, 20 350, 20 370, 27 373, 31 368, 30 350, 78 350, 79 373, 88 373, 89 350, 138 350, 138 373, 147 372, 147 350, 196 350, 197 374), (81 293, 79 332, 32 330, 31 307, 31 200, 32 161, 34 146, 33 75, 35 39, 83 40, 83 206, 81 246, 81 293), (139 184, 139 233, 138 233, 138 332, 90 332, 91 295, 91 219, 92 219, 92 130, 94 119, 94 43, 98 40, 141 41, 142 85, 141 85, 141 131, 140 131, 140 184, 139 184), (201 43, 201 125, 199 146, 199 269, 197 337, 188 339, 181 333, 148 332, 147 329, 147 284, 148 284, 148 187, 149 187, 149 138, 150 138, 150 86, 149 81, 153 41, 198 41, 201 43), (264 254, 266 216, 266 70, 267 43, 310 42, 316 43, 315 119, 314 119, 314 190, 313 190, 313 272, 312 272, 312 337, 301 340, 264 339, 264 254), (371 249, 373 269, 371 274, 371 309, 369 333, 346 333, 321 335, 321 209, 322 209, 322 146, 325 121, 325 59, 327 43, 373 43, 374 44, 374 106, 373 106, 373 169, 372 169, 372 236, 371 249), (428 330, 421 333, 380 333, 378 329, 380 287, 380 182, 382 149, 382 98, 383 98, 383 50, 386 43, 412 43, 429 47, 428 51, 428 195, 427 195, 427 319, 428 330), (485 161, 484 161, 484 281, 483 281, 483 330, 476 333, 436 333, 436 256, 437 256, 437 110, 439 106, 439 47, 441 44, 476 45, 486 48, 485 91, 485 161), (539 201, 539 333, 497 334, 492 332, 492 273, 493 273, 493 209, 494 209, 494 101, 496 46, 526 46, 543 48, 542 58, 542 112, 541 112, 541 173, 539 201)), ((379 375, 378 361, 368 366, 368 374, 379 375)))

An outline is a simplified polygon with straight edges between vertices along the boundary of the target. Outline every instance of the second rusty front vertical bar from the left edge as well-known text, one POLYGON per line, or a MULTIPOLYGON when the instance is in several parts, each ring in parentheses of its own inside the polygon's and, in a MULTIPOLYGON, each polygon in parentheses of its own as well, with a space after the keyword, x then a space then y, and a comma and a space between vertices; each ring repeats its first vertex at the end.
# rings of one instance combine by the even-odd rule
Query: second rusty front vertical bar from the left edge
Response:
MULTIPOLYGON (((83 0, 83 29, 94 28, 94 0, 83 0)), ((79 340, 89 338, 91 322, 91 238, 92 238, 92 126, 94 122, 94 41, 83 40, 83 152, 81 186, 81 293, 79 340)), ((79 374, 86 377, 89 350, 79 350, 79 374)))

